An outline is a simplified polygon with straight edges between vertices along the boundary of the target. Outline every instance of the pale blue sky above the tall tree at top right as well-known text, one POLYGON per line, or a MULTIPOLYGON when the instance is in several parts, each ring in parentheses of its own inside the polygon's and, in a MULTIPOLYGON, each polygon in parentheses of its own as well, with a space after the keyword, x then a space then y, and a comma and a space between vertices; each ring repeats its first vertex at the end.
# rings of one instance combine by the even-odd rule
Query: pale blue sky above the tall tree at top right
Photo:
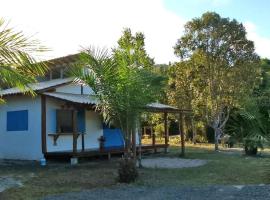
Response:
POLYGON ((261 36, 270 37, 269 0, 165 0, 164 5, 186 20, 214 11, 239 22, 252 22, 261 36))

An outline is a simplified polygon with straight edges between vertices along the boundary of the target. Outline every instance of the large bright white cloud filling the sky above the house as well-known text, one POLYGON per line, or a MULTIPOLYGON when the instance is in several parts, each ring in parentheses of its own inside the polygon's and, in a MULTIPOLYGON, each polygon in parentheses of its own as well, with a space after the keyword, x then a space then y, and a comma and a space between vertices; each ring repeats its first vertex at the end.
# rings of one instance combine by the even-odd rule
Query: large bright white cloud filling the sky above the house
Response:
POLYGON ((80 46, 116 45, 124 27, 142 31, 146 49, 157 63, 175 61, 173 45, 184 20, 162 0, 9 0, 1 17, 18 30, 34 34, 52 49, 46 58, 76 53, 80 46))

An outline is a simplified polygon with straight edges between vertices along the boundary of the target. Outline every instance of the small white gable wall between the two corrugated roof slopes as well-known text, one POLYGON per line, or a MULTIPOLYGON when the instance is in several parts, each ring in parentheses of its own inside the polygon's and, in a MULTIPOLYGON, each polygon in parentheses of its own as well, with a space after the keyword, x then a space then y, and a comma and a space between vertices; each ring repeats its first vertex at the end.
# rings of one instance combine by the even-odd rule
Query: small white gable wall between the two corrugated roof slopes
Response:
MULTIPOLYGON (((56 88, 56 92, 81 94, 81 85, 76 83, 71 83, 56 88)), ((93 94, 93 90, 89 86, 83 86, 83 94, 93 94)))

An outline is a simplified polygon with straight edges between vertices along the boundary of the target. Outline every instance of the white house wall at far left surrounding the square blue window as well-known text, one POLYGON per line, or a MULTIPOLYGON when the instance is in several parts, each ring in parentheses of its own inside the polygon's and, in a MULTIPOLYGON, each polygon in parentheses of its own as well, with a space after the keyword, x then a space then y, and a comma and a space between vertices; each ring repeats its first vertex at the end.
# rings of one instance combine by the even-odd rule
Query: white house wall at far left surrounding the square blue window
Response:
POLYGON ((41 149, 41 98, 10 96, 0 105, 0 158, 39 160, 41 149), (28 130, 7 131, 7 112, 28 110, 28 130))

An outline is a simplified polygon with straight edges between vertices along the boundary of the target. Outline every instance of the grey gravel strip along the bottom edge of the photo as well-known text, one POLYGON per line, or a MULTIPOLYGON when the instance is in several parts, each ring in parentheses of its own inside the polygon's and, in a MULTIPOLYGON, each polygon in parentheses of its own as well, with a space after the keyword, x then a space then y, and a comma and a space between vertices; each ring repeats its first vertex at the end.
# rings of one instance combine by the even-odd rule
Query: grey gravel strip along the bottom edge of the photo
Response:
POLYGON ((270 199, 270 185, 207 187, 135 187, 93 189, 77 193, 49 196, 43 200, 265 200, 270 199))

